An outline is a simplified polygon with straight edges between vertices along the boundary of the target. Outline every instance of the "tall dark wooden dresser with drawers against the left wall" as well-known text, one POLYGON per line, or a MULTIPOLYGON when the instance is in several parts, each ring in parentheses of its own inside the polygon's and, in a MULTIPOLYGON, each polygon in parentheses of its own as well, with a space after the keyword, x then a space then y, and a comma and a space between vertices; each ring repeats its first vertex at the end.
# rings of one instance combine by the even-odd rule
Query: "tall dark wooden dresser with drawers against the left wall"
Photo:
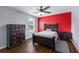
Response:
POLYGON ((25 40, 25 25, 7 24, 7 47, 20 45, 25 40))

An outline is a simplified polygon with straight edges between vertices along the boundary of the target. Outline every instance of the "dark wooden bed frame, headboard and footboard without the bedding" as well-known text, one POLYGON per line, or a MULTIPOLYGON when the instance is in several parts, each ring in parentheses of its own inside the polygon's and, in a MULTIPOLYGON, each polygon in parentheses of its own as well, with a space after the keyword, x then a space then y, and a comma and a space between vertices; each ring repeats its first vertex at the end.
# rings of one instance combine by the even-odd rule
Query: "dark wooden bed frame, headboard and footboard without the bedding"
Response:
MULTIPOLYGON (((58 31, 58 25, 57 24, 44 24, 44 30, 46 29, 54 29, 55 31, 58 31)), ((34 43, 38 43, 40 45, 44 45, 46 47, 49 47, 55 50, 55 37, 46 38, 46 37, 36 36, 33 34, 33 44, 34 43)))

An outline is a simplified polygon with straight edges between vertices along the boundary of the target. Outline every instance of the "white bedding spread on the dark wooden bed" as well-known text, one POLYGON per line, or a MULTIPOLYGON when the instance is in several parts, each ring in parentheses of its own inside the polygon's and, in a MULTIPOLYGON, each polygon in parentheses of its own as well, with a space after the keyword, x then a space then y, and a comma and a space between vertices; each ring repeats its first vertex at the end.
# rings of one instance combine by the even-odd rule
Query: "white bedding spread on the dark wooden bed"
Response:
POLYGON ((42 31, 42 32, 35 33, 35 35, 40 37, 47 37, 47 38, 55 37, 55 41, 57 40, 57 37, 58 37, 58 34, 56 31, 42 31))

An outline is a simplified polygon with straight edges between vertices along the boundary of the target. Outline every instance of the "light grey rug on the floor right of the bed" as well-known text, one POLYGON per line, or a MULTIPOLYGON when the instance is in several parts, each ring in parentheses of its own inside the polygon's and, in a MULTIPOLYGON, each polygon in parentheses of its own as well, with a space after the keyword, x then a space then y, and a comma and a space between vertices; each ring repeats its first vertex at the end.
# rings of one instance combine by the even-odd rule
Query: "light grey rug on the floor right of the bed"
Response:
POLYGON ((57 42, 55 43, 55 49, 58 52, 61 53, 69 53, 69 47, 66 41, 62 41, 62 40, 57 40, 57 42))

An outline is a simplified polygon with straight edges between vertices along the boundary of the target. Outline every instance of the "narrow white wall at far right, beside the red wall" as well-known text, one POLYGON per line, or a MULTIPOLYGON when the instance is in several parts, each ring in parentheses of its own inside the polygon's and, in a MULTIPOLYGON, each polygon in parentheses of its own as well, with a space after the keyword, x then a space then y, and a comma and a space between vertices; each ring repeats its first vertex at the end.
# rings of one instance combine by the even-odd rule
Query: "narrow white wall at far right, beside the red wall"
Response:
POLYGON ((79 52, 79 7, 72 8, 73 44, 79 52))

